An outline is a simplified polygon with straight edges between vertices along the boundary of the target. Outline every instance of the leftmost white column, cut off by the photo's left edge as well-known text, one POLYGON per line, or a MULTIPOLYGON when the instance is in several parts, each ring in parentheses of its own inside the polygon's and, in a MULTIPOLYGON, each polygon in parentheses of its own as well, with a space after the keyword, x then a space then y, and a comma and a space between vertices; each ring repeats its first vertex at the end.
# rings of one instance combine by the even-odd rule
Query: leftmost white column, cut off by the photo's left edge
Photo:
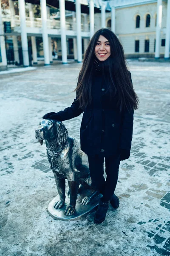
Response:
POLYGON ((5 37, 3 34, 4 32, 3 32, 3 22, 2 22, 2 9, 1 9, 1 0, 0 0, 0 51, 1 51, 0 70, 7 69, 5 37))

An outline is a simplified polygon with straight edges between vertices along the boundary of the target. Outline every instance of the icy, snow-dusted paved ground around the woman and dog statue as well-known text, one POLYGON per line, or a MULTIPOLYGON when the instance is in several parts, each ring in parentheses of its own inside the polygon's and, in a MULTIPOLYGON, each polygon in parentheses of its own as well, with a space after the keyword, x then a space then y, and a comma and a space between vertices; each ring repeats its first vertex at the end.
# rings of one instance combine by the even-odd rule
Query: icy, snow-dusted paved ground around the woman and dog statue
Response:
MULTIPOLYGON (((57 194, 34 138, 43 114, 68 107, 81 64, 0 76, 0 256, 170 256, 170 63, 128 61, 140 98, 129 160, 121 162, 106 220, 78 221, 47 213, 57 194)), ((79 140, 82 116, 64 122, 79 140)))

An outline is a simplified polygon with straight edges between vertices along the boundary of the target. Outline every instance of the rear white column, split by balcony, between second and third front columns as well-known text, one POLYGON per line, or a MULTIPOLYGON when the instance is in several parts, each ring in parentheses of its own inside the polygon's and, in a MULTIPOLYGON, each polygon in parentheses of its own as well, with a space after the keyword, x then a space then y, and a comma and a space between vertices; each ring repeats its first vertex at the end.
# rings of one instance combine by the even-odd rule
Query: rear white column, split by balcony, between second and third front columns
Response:
MULTIPOLYGON (((33 5, 31 3, 28 3, 29 8, 29 17, 31 22, 31 27, 34 27, 34 13, 33 13, 33 5)), ((32 47, 32 58, 33 58, 33 64, 38 64, 37 62, 37 46, 36 46, 36 37, 31 36, 31 47, 32 47)))

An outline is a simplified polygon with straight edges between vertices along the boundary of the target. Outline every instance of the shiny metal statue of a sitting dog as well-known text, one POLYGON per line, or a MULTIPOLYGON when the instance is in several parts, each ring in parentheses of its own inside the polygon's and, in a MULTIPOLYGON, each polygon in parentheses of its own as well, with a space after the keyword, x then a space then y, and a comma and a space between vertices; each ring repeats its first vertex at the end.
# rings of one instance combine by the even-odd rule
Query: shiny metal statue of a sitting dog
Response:
MULTIPOLYGON (((68 180, 70 204, 65 209, 65 215, 75 212, 79 185, 90 188, 91 177, 87 155, 79 148, 77 141, 68 135, 62 122, 42 119, 35 130, 35 137, 42 145, 43 140, 47 147, 47 157, 59 193, 59 201, 54 205, 60 209, 65 205, 65 179, 68 180)), ((82 199, 82 204, 87 205, 99 192, 92 190, 89 197, 82 199)))

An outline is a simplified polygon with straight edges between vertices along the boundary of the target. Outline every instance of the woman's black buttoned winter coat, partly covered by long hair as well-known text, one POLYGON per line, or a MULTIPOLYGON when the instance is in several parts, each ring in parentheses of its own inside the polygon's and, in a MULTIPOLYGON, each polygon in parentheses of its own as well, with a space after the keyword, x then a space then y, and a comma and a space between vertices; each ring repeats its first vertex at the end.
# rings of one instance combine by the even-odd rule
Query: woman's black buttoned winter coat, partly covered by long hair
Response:
MULTIPOLYGON (((104 82, 101 72, 95 72, 92 103, 83 113, 80 128, 81 149, 88 155, 99 154, 106 157, 119 154, 120 148, 131 148, 134 111, 126 111, 121 115, 116 108, 116 100, 110 100, 107 89, 108 84, 104 82)), ((57 116, 58 120, 65 121, 82 112, 79 101, 74 99, 71 107, 57 112, 57 116)))

